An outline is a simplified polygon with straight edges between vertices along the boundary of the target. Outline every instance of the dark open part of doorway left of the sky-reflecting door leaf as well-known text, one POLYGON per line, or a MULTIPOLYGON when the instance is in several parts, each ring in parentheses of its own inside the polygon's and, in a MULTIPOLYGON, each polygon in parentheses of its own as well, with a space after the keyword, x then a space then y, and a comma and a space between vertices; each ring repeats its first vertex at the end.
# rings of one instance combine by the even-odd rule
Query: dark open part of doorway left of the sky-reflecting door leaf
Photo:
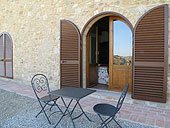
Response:
POLYGON ((89 85, 108 90, 109 86, 109 17, 98 20, 88 35, 89 85))

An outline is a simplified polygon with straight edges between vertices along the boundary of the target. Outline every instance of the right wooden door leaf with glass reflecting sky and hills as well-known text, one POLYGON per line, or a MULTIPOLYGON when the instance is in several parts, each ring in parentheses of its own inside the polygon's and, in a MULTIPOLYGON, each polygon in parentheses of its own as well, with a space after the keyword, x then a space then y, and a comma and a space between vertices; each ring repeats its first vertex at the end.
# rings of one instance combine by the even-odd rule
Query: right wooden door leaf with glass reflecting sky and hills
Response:
POLYGON ((109 89, 132 88, 132 31, 121 18, 109 17, 109 89), (123 39, 123 40, 122 40, 123 39))

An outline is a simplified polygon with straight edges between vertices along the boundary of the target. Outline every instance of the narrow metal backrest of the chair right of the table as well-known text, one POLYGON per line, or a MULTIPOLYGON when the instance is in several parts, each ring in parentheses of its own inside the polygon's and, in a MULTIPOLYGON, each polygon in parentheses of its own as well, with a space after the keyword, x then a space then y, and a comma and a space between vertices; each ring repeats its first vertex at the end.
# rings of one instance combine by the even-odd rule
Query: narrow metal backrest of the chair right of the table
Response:
POLYGON ((120 98, 118 100, 118 103, 117 103, 117 111, 120 110, 120 108, 122 107, 122 104, 123 104, 123 101, 126 97, 126 94, 127 94, 127 91, 128 91, 128 88, 129 88, 129 83, 127 83, 127 85, 124 87, 121 95, 120 95, 120 98))

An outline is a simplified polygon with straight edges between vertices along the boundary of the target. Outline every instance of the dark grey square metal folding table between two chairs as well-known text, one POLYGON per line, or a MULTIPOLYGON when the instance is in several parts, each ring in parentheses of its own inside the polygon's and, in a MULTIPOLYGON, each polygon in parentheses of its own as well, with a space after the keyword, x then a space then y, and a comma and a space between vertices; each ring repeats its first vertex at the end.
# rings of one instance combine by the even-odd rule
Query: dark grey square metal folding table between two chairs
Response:
POLYGON ((64 106, 66 107, 62 117, 59 119, 59 121, 57 122, 57 124, 54 126, 54 128, 60 123, 60 121, 62 120, 62 118, 65 116, 65 115, 69 115, 70 118, 71 118, 71 121, 73 123, 73 127, 75 128, 75 124, 74 124, 74 119, 77 119, 79 118, 81 115, 85 115, 86 118, 91 121, 89 119, 89 117, 86 115, 86 113, 84 112, 84 110, 82 109, 79 101, 80 99, 94 93, 95 90, 91 90, 91 89, 86 89, 86 88, 76 88, 76 87, 65 87, 65 88, 61 88, 61 89, 58 89, 58 90, 55 90, 55 91, 51 91, 49 94, 50 95, 55 95, 55 96, 60 96, 61 97, 61 100, 64 104, 64 106), (64 101, 64 98, 69 98, 71 99, 70 102, 68 103, 68 105, 66 105, 66 102, 64 101), (72 101, 75 100, 76 101, 76 104, 75 106, 73 107, 73 109, 71 110, 71 112, 69 112, 69 107, 72 103, 72 101), (79 106, 80 107, 80 110, 81 110, 81 114, 78 115, 77 117, 73 118, 72 117, 72 113, 73 111, 75 110, 76 106, 79 106))

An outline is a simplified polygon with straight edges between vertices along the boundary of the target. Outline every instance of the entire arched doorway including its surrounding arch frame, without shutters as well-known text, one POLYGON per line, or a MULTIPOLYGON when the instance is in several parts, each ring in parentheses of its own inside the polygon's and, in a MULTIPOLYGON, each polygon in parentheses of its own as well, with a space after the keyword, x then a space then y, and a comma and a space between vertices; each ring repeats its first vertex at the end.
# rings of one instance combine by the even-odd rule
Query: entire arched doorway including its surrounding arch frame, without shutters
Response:
MULTIPOLYGON (((83 48, 83 54, 86 55, 86 60, 83 60, 83 64, 86 63, 86 66, 83 65, 83 74, 86 70, 83 82, 86 83, 83 83, 83 87, 121 91, 127 82, 132 86, 132 30, 132 24, 127 18, 115 12, 98 14, 87 22, 82 30, 83 43, 86 43, 86 47, 83 48), (114 30, 117 26, 123 26, 131 38, 128 43, 130 46, 126 45, 130 47, 130 54, 124 53, 124 56, 119 56, 122 61, 119 61, 119 64, 115 63, 114 54, 124 51, 118 48, 118 44, 122 46, 124 43, 118 43, 119 39, 113 40, 114 32, 120 34, 114 30)), ((125 37, 122 35, 122 38, 125 37)))

